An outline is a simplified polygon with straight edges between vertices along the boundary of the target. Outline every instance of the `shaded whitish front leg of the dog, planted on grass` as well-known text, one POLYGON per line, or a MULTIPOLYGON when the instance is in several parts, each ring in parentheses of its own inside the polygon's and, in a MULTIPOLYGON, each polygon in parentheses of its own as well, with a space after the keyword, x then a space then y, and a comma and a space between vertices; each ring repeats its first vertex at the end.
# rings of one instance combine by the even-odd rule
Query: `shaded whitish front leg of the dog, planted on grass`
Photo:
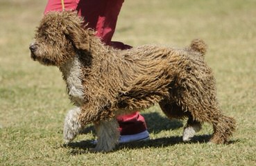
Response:
POLYGON ((95 124, 97 145, 92 151, 111 151, 119 143, 119 124, 116 118, 95 124))

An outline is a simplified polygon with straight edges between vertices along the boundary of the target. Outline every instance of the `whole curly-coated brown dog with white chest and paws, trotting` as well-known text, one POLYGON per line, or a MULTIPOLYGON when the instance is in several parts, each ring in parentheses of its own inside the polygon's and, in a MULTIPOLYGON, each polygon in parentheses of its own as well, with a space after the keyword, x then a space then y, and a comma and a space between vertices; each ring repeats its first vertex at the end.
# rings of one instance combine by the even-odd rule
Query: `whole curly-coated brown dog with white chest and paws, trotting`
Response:
POLYGON ((117 50, 105 46, 82 23, 75 12, 49 12, 30 46, 32 59, 60 68, 76 105, 65 119, 67 142, 85 124, 94 123, 95 151, 110 151, 119 142, 115 117, 157 103, 168 118, 188 118, 185 141, 203 122, 213 125, 211 142, 225 143, 232 136, 235 121, 221 113, 202 40, 182 49, 145 45, 117 50))

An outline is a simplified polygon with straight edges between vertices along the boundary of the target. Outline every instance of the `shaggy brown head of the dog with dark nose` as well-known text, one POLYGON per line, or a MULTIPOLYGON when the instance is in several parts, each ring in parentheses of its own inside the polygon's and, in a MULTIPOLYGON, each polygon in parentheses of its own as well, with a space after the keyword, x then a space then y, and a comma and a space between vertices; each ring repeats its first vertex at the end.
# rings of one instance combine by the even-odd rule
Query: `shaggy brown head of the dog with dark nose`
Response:
POLYGON ((60 66, 79 50, 89 50, 93 30, 82 28, 83 19, 76 12, 49 12, 36 30, 29 46, 31 58, 44 65, 60 66))

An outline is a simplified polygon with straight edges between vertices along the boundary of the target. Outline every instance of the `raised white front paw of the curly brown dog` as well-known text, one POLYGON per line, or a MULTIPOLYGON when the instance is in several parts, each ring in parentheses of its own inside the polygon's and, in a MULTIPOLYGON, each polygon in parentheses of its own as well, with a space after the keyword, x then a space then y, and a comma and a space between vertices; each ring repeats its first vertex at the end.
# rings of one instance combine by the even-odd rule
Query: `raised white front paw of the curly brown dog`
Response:
POLYGON ((65 118, 64 129, 63 129, 63 138, 66 143, 71 142, 76 138, 82 126, 78 121, 78 116, 80 113, 80 109, 71 109, 65 118))

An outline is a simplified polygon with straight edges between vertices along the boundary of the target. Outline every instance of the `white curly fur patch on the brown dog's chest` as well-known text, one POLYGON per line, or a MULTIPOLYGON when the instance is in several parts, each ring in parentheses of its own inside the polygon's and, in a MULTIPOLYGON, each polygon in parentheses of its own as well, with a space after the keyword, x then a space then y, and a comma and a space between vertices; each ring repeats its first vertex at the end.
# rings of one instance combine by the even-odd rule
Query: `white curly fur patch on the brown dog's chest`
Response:
POLYGON ((84 102, 83 75, 78 58, 72 59, 65 64, 64 75, 67 82, 67 91, 72 102, 81 105, 84 102))

